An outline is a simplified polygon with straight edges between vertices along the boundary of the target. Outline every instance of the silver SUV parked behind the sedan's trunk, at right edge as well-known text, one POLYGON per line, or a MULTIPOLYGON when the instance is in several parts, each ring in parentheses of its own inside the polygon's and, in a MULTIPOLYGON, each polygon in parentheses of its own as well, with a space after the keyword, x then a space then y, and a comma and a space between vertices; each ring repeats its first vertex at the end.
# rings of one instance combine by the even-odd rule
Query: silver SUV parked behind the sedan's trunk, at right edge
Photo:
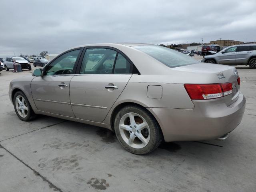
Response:
POLYGON ((249 65, 256 68, 256 44, 229 46, 214 55, 207 55, 201 60, 205 63, 223 65, 249 65))

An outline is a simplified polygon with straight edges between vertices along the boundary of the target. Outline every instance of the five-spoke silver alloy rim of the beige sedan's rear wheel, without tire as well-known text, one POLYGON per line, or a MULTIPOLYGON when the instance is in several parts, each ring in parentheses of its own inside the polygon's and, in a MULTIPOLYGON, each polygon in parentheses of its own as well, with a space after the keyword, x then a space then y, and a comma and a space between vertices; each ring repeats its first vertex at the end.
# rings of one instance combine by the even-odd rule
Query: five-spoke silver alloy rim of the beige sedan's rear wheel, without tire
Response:
POLYGON ((132 148, 144 148, 150 140, 150 128, 146 120, 137 113, 126 113, 119 123, 122 139, 132 148))

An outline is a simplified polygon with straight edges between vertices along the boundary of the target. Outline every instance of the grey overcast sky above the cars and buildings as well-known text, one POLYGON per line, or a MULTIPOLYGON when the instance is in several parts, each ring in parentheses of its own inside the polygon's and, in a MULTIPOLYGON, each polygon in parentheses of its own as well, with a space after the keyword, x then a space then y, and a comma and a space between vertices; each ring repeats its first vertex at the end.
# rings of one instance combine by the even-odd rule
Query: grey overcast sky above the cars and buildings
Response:
POLYGON ((256 40, 256 0, 1 0, 0 57, 100 42, 256 40))

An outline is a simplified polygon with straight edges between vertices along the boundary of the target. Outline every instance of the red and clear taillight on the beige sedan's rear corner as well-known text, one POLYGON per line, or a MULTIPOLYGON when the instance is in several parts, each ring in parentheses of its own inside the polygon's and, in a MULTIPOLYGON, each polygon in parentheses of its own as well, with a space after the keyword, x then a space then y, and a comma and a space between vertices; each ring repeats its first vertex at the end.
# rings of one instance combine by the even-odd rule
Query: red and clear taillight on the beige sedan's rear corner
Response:
POLYGON ((232 93, 232 83, 184 84, 191 99, 215 99, 232 93))

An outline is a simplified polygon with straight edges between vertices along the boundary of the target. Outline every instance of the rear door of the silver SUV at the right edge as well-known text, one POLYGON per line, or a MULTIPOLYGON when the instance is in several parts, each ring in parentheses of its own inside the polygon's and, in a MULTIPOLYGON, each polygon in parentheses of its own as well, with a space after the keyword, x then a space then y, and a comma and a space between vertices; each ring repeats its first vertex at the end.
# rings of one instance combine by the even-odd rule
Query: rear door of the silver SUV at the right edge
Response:
POLYGON ((236 49, 236 64, 245 65, 252 56, 251 46, 238 46, 236 49))

